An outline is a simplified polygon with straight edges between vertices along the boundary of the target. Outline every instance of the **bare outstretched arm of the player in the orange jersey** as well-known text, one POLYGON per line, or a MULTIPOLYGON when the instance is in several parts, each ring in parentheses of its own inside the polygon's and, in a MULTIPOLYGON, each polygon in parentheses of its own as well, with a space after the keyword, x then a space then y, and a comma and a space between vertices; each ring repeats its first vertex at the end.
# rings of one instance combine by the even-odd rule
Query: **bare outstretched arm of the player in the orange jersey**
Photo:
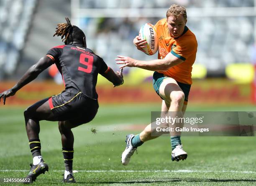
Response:
POLYGON ((183 62, 183 60, 177 58, 176 56, 172 55, 172 53, 168 53, 164 59, 157 59, 157 60, 150 60, 150 61, 142 61, 142 60, 135 60, 130 57, 120 56, 115 60, 121 61, 117 62, 116 64, 123 64, 120 68, 128 67, 138 67, 143 68, 146 70, 162 70, 166 71, 169 68, 178 65, 183 62))

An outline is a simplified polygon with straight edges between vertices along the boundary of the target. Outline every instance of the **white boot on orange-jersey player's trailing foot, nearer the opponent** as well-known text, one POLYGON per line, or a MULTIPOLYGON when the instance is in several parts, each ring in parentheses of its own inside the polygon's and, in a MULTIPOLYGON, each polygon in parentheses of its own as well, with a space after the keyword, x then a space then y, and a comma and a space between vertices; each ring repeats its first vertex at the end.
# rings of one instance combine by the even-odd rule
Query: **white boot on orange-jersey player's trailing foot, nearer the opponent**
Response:
POLYGON ((137 150, 137 148, 134 148, 131 145, 131 140, 134 136, 135 136, 134 134, 129 134, 128 136, 126 136, 126 140, 125 140, 126 147, 125 147, 125 150, 123 151, 122 156, 121 156, 121 158, 122 158, 121 163, 123 165, 128 165, 128 163, 130 162, 131 156, 133 156, 134 151, 137 150))

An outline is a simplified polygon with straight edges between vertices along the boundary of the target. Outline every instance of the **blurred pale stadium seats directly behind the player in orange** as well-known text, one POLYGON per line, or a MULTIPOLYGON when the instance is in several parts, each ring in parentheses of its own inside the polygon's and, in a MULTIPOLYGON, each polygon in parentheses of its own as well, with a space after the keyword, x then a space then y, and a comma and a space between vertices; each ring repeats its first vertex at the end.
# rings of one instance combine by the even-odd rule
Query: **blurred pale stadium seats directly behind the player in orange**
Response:
MULTIPOLYGON (((253 0, 80 0, 80 8, 168 8, 173 3, 184 5, 188 9, 254 6, 253 0)), ((88 38, 87 42, 107 63, 113 61, 113 56, 118 54, 152 59, 152 56, 137 52, 132 45, 132 39, 138 34, 141 25, 155 24, 160 18, 101 18, 98 22, 95 19, 97 20, 81 18, 80 22, 85 23, 81 26, 87 35, 95 35, 96 28, 97 34, 92 39, 88 38)), ((196 63, 204 65, 208 72, 218 75, 224 73, 225 67, 230 63, 251 63, 250 53, 254 45, 253 16, 192 16, 188 17, 187 25, 197 36, 196 63)))

